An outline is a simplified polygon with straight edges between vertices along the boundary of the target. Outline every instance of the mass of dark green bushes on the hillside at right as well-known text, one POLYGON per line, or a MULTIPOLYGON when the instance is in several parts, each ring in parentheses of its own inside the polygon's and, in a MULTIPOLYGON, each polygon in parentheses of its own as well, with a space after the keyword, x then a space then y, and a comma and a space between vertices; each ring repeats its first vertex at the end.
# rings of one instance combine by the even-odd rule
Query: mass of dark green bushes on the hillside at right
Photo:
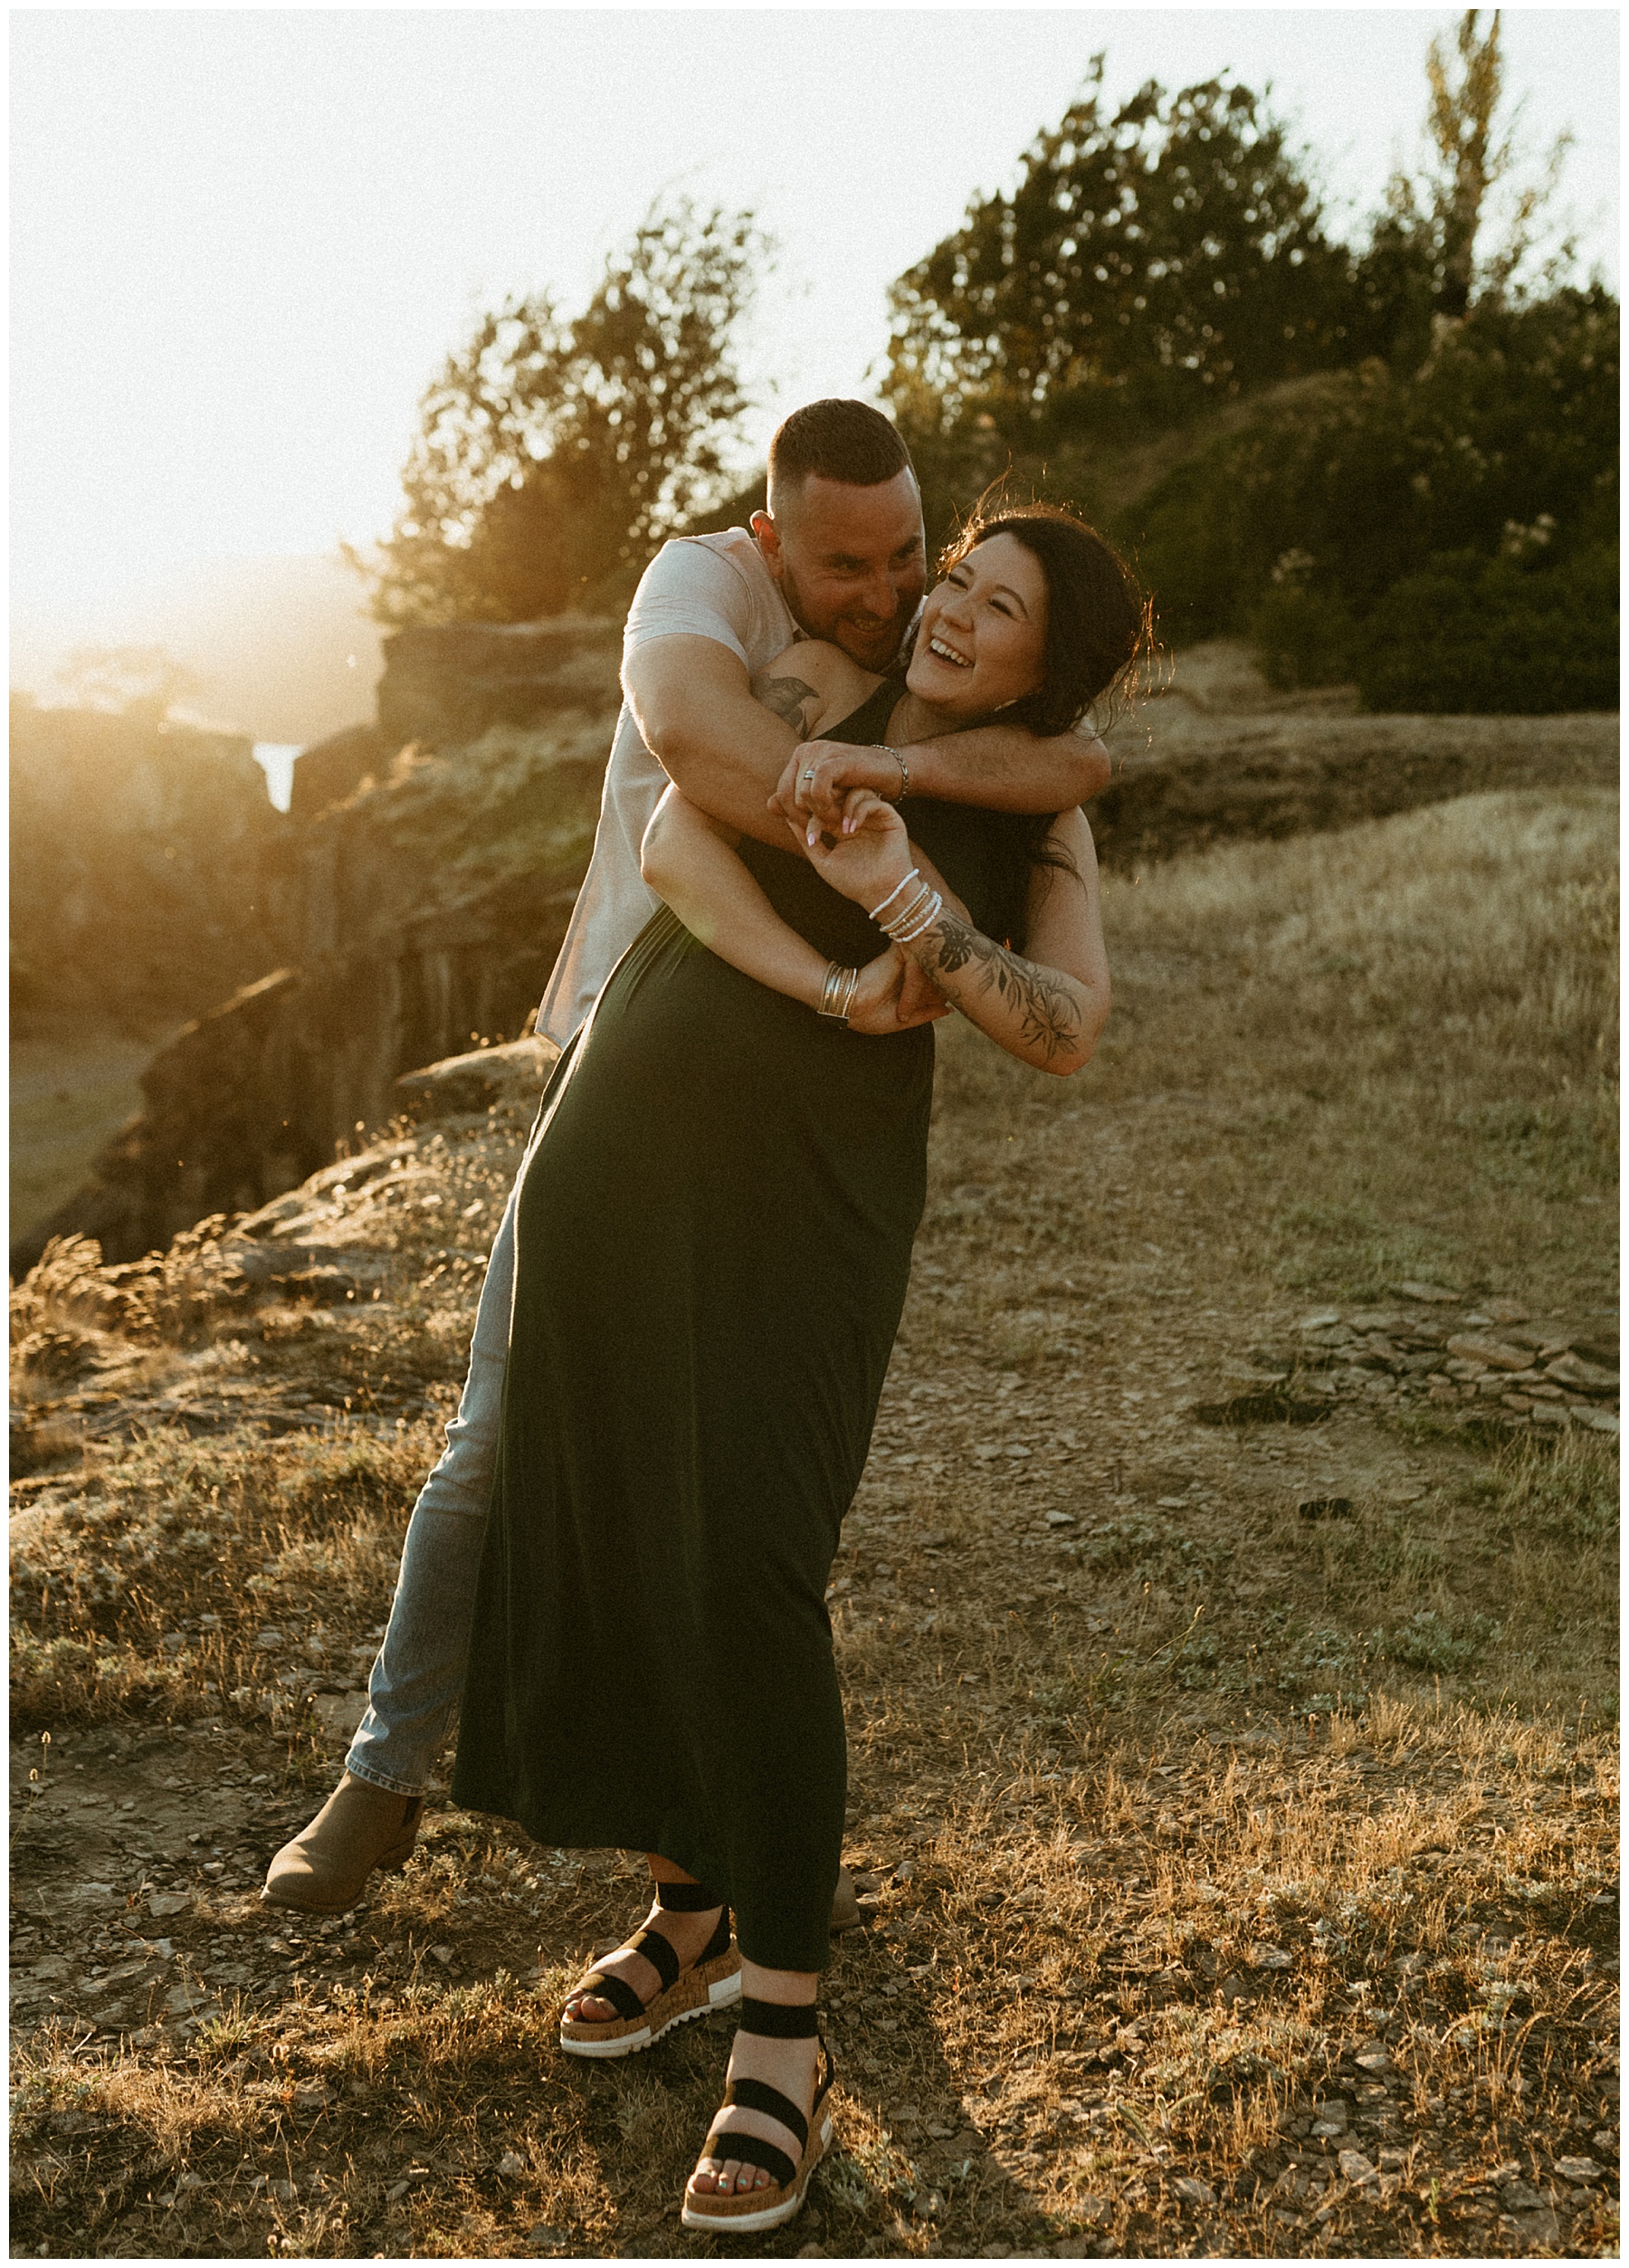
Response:
MULTIPOLYGON (((1450 583, 1491 574, 1484 603, 1497 601, 1500 628, 1484 644, 1509 635, 1511 660, 1461 669, 1461 689, 1432 705, 1525 712, 1615 701, 1604 662, 1615 526, 1618 306, 1602 290, 1438 324, 1418 367, 1368 361, 1282 386, 1114 515, 1173 644, 1252 633, 1284 683, 1327 683, 1341 610, 1364 624, 1429 576, 1379 626, 1425 628, 1445 606, 1468 617, 1477 599, 1438 587, 1445 558, 1459 562, 1450 583), (1581 583, 1554 583, 1563 567, 1581 583), (1570 635, 1552 612, 1577 615, 1570 635)), ((1475 642, 1470 628, 1457 644, 1475 642)), ((1404 674, 1393 685, 1379 653, 1377 705, 1413 705, 1404 674)))

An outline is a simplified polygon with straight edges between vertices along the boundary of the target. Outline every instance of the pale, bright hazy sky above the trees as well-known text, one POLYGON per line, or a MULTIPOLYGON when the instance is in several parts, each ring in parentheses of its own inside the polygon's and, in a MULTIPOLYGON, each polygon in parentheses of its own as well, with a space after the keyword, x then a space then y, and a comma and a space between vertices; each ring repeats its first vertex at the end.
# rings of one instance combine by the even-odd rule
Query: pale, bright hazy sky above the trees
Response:
MULTIPOLYGON (((383 535, 476 311, 572 308, 651 197, 780 240, 749 445, 864 392, 889 281, 1007 186, 1096 50, 1109 93, 1232 68, 1336 222, 1418 147, 1445 9, 14 9, 14 610, 383 535)), ((1509 9, 1522 147, 1618 279, 1618 14, 1509 9)))

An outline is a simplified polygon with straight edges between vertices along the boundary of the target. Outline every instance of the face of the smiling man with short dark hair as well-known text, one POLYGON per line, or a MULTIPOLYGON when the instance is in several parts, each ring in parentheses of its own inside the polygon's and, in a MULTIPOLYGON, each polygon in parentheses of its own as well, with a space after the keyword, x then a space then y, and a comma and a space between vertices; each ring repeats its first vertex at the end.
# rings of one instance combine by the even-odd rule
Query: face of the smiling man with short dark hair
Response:
POLYGON ((928 583, 912 474, 851 488, 812 472, 774 503, 774 517, 753 513, 753 535, 796 626, 887 669, 928 583))

